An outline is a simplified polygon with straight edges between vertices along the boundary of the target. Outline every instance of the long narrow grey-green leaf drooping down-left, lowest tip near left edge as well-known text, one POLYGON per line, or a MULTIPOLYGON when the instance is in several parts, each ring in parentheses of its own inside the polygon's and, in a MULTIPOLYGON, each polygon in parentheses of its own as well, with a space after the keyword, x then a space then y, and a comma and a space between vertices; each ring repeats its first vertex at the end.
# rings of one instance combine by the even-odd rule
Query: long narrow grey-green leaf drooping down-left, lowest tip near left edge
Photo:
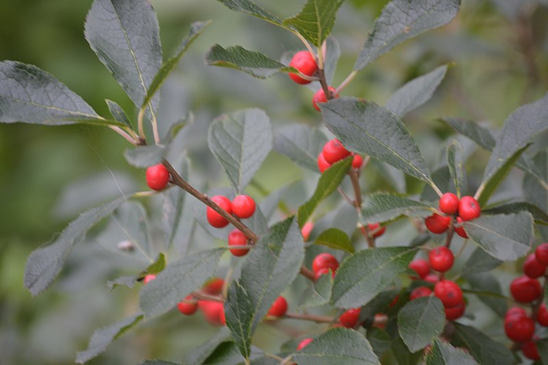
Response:
POLYGON ((91 227, 112 214, 124 201, 125 198, 119 198, 82 213, 69 223, 52 244, 32 251, 25 266, 25 288, 33 296, 49 288, 75 244, 81 242, 91 227))

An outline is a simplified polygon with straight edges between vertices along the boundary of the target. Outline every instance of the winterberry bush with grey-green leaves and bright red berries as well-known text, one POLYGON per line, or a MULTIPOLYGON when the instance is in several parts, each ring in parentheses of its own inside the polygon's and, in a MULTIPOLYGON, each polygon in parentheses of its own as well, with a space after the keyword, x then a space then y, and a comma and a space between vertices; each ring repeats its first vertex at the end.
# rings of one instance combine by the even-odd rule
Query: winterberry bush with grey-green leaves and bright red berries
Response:
POLYGON ((36 66, 0 62, 1 122, 108 127, 132 144, 124 154, 128 164, 146 169, 150 191, 123 194, 82 213, 53 243, 28 257, 25 287, 37 295, 53 284, 88 231, 106 220, 103 240, 114 242, 121 255, 148 259, 134 266, 133 275, 108 283, 112 290, 138 290, 139 310, 97 329, 76 362, 91 360, 128 329, 175 308, 184 316, 201 312, 219 333, 175 363, 142 364, 514 364, 520 357, 548 362, 542 328, 548 325, 548 243, 543 243, 548 241, 548 150, 540 144, 534 155, 528 153, 548 130, 548 95, 516 109, 498 131, 440 110, 440 123, 490 151, 474 186, 467 181, 470 145, 451 140, 445 163, 433 170, 404 123, 406 114, 434 95, 449 64, 401 86, 384 106, 345 94, 379 56, 450 23, 459 0, 389 1, 338 86, 332 84, 338 43, 330 33, 343 1, 308 0, 286 19, 249 0, 219 2, 290 32, 302 49, 275 60, 239 45, 213 45, 206 63, 258 78, 282 74, 276 77, 312 89, 309 106, 318 111, 325 134, 302 124, 273 133, 263 110, 227 111, 208 131, 208 147, 226 186, 209 191, 190 182, 195 178, 184 153, 170 154, 177 136, 195 123, 192 114, 164 134, 158 118, 164 81, 208 21, 192 23, 179 49, 163 60, 158 22, 147 0, 93 2, 86 39, 135 104, 136 120, 110 100, 110 115, 97 114, 36 66), (284 207, 283 190, 266 192, 262 201, 247 191, 272 150, 318 174, 314 191, 295 211, 284 207), (524 196, 515 192, 493 199, 512 168, 523 174, 524 196), (375 171, 403 181, 405 174, 422 192, 399 186, 371 191, 362 176, 375 171), (163 203, 152 219, 140 199, 158 196, 163 203), (173 249, 181 232, 188 241, 195 234, 186 222, 190 199, 195 199, 192 222, 210 234, 214 248, 173 249), (338 205, 333 214, 321 216, 325 200, 338 205), (413 236, 380 244, 401 222, 413 227, 413 236), (151 225, 161 234, 150 235, 151 225), (470 247, 473 253, 460 260, 470 247), (490 273, 503 262, 523 263, 524 275, 516 275, 508 290, 490 273), (476 316, 479 301, 498 316, 490 333, 476 316), (253 345, 259 327, 283 328, 297 320, 319 327, 295 336, 287 331, 287 342, 274 353, 253 345))

